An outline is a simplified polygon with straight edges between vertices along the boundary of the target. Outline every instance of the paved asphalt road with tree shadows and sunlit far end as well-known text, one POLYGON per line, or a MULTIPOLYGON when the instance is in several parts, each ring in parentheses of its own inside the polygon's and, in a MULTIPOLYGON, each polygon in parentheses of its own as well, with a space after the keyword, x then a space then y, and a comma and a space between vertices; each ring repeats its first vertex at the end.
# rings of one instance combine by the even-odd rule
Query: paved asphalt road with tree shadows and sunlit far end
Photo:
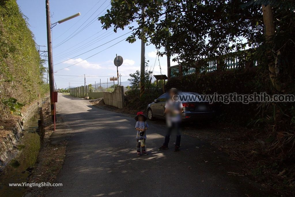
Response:
POLYGON ((53 142, 68 140, 65 163, 48 196, 261 196, 239 163, 193 137, 182 136, 181 151, 158 151, 164 125, 149 122, 150 155, 136 156, 134 118, 91 106, 89 101, 58 95, 53 142), (196 148, 199 147, 199 148, 196 148), (205 162, 207 161, 207 162, 205 162), (246 195, 245 195, 246 194, 246 195))

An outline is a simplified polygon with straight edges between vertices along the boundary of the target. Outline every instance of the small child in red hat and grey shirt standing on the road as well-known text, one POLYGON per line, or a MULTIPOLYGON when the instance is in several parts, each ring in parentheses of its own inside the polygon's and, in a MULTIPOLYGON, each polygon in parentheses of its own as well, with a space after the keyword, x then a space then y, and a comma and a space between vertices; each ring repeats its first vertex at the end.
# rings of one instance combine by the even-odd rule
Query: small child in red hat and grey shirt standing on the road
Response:
POLYGON ((135 129, 137 130, 137 156, 141 156, 140 147, 142 149, 142 154, 148 155, 148 153, 145 151, 145 139, 147 138, 145 131, 148 129, 148 123, 146 122, 147 119, 148 118, 143 114, 142 111, 137 112, 137 115, 135 116, 135 120, 137 121, 135 124, 135 129))

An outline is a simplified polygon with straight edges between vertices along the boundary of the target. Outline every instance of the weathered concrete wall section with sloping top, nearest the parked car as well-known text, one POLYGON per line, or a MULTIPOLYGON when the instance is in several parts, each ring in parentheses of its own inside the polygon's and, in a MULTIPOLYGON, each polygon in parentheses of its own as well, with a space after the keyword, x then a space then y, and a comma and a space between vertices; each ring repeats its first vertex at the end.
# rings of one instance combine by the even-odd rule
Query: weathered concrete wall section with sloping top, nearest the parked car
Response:
POLYGON ((124 91, 123 86, 117 86, 114 92, 103 92, 104 104, 117 108, 124 107, 124 91))

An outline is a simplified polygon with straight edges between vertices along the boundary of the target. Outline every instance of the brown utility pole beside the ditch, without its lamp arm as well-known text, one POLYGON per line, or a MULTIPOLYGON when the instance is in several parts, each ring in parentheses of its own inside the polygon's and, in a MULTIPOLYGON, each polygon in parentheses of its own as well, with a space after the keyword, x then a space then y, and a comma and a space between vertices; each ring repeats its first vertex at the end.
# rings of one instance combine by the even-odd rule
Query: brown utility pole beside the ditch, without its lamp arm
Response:
POLYGON ((52 94, 54 92, 54 77, 53 77, 53 57, 52 57, 52 40, 51 40, 51 24, 50 24, 50 10, 49 0, 46 0, 46 26, 47 26, 47 49, 48 49, 48 74, 49 74, 49 90, 50 90, 50 109, 51 120, 54 122, 55 110, 52 100, 52 94))

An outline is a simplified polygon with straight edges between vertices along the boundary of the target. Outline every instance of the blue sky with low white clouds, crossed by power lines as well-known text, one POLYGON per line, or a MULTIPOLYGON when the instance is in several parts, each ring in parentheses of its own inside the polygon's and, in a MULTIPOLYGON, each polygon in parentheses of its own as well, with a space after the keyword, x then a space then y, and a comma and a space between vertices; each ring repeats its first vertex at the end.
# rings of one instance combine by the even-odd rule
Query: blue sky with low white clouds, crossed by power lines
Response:
MULTIPOLYGON (((17 0, 17 3, 23 14, 28 18, 30 29, 35 35, 37 45, 47 46, 45 0, 17 0)), ((123 40, 131 34, 128 33, 130 31, 128 28, 123 31, 118 30, 117 33, 114 33, 112 29, 108 31, 105 29, 102 30, 102 25, 97 20, 97 16, 103 15, 106 9, 110 7, 109 0, 50 1, 51 23, 78 12, 81 13, 81 16, 57 24, 52 29, 54 70, 57 71, 70 66, 55 73, 55 83, 58 88, 66 88, 69 86, 69 83, 71 83, 71 87, 84 85, 84 77, 60 75, 85 74, 89 76, 86 77, 86 84, 94 84, 95 81, 99 83, 100 80, 101 83, 103 83, 107 81, 109 76, 116 76, 117 68, 113 63, 116 53, 124 59, 123 64, 119 67, 119 73, 122 75, 122 82, 130 78, 130 73, 140 70, 140 40, 130 44, 123 40), (126 33, 128 34, 124 35, 126 33), (123 41, 119 42, 121 40, 123 41), (119 43, 116 44, 117 42, 119 43), (94 55, 96 53, 98 54, 94 55), (94 56, 90 57, 92 55, 94 56), (85 60, 86 58, 88 59, 85 60)), ((136 24, 132 25, 136 26, 136 24)), ((47 47, 41 47, 41 50, 47 50, 47 47)), ((158 60, 155 63, 156 50, 153 45, 146 46, 145 57, 147 60, 150 60, 150 69, 154 69, 154 74, 160 74, 158 60)), ((171 61, 171 66, 175 64, 176 63, 171 61)), ((160 57, 160 65, 162 74, 167 75, 167 59, 165 56, 162 58, 160 57)), ((48 65, 46 65, 46 67, 47 66, 48 65)), ((124 85, 124 83, 122 83, 122 85, 124 85)))

